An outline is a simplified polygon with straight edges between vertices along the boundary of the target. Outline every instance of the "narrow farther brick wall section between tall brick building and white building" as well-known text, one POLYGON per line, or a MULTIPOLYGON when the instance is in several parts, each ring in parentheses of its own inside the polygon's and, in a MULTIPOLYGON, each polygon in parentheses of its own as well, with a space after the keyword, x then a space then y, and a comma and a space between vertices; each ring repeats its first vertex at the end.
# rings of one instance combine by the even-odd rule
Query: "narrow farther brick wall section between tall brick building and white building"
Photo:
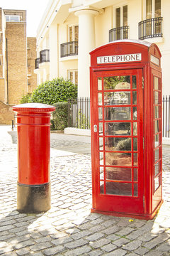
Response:
POLYGON ((37 87, 37 75, 34 73, 36 55, 36 38, 27 38, 27 61, 28 61, 28 92, 33 92, 37 87))

